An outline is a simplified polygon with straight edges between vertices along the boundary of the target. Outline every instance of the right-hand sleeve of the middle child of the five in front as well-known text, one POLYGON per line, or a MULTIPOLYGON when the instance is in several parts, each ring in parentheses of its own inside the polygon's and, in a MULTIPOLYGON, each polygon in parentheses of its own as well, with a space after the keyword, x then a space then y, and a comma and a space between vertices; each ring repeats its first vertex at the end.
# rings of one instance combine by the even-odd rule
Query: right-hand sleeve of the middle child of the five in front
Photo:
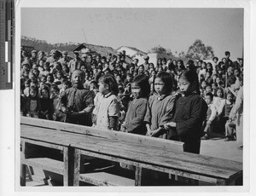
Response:
POLYGON ((136 118, 133 118, 130 122, 125 121, 128 131, 136 129, 139 125, 143 124, 145 114, 147 112, 147 102, 143 101, 136 108, 136 118))

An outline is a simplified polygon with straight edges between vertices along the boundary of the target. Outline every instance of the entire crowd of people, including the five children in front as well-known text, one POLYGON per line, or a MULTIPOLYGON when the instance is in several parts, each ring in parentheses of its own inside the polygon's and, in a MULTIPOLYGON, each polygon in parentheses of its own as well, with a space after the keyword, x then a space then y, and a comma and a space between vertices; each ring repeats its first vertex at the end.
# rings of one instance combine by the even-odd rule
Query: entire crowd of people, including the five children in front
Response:
POLYGON ((20 114, 185 142, 200 153, 216 134, 242 149, 243 60, 166 58, 156 65, 117 55, 21 50, 20 114))

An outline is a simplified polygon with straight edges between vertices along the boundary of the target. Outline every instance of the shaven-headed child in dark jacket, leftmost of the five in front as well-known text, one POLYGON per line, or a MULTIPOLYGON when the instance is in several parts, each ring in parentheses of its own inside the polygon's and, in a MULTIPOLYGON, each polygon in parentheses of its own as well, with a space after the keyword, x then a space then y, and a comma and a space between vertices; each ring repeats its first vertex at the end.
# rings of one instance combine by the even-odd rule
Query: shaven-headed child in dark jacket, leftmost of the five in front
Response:
POLYGON ((73 86, 61 95, 62 112, 67 114, 67 123, 91 126, 91 112, 94 95, 84 89, 85 74, 81 70, 72 73, 73 86))

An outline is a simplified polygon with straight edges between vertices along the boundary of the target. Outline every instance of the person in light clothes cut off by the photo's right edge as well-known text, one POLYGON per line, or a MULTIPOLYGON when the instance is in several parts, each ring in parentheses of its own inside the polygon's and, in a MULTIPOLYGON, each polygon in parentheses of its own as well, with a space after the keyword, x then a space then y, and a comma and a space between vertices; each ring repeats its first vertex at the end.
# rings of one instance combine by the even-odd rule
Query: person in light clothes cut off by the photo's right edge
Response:
POLYGON ((234 112, 230 117, 231 120, 236 118, 236 141, 238 142, 239 149, 243 147, 243 74, 239 76, 240 89, 237 92, 236 104, 234 106, 234 112), (235 117, 236 115, 236 117, 235 117))

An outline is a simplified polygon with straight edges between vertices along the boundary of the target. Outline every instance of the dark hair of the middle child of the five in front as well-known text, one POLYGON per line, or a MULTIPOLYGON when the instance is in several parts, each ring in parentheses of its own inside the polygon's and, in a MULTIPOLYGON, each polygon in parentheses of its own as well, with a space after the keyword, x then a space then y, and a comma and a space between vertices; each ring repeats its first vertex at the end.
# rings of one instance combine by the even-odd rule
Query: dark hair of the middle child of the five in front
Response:
POLYGON ((141 97, 148 97, 150 93, 150 84, 146 75, 137 75, 132 83, 137 84, 141 88, 141 97))

